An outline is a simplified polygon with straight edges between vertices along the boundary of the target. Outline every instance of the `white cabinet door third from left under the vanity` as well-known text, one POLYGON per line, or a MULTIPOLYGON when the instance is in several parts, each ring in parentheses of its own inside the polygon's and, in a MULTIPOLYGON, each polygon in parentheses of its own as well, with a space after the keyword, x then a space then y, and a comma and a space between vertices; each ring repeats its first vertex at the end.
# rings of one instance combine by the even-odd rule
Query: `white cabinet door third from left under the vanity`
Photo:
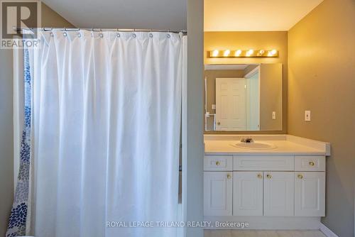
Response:
POLYGON ((294 172, 264 172, 264 216, 293 216, 294 172))

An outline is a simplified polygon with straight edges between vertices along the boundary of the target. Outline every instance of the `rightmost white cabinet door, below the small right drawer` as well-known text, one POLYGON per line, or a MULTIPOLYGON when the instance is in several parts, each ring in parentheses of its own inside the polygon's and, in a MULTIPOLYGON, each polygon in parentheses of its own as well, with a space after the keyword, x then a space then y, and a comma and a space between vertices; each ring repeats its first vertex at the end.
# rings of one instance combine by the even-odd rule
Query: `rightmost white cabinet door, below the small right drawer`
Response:
POLYGON ((295 172, 295 216, 325 216, 325 172, 295 172))

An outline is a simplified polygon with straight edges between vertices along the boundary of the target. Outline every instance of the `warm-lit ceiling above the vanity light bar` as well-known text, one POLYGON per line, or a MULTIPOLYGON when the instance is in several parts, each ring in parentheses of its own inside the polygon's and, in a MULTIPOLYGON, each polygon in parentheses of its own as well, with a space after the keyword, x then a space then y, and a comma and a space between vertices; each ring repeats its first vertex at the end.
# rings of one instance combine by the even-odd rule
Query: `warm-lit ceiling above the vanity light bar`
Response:
POLYGON ((323 0, 204 0, 204 31, 288 31, 323 0))

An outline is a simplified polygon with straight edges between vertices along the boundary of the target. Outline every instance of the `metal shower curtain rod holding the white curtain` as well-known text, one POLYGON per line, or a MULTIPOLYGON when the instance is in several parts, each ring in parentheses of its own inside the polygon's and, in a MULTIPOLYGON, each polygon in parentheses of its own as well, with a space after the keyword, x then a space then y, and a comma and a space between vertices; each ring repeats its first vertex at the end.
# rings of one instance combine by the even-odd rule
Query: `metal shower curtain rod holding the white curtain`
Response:
POLYGON ((80 30, 86 30, 86 31, 120 31, 120 32, 138 32, 138 31, 143 31, 143 32, 166 32, 166 33, 183 33, 184 35, 187 35, 186 30, 156 30, 156 29, 139 29, 139 28, 133 28, 133 29, 121 29, 121 28, 51 28, 51 27, 42 27, 42 28, 16 28, 13 27, 15 31, 22 31, 22 30, 27 30, 27 31, 33 31, 35 29, 38 29, 40 31, 52 31, 52 30, 57 30, 57 31, 80 31, 80 30))

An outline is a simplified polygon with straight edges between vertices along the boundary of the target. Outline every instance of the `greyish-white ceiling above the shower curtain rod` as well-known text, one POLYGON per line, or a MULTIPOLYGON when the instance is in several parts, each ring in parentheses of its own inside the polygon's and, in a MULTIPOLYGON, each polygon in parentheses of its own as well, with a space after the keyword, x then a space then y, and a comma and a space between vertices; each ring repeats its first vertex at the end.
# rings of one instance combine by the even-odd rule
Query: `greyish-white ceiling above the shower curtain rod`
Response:
POLYGON ((185 30, 186 0, 44 0, 79 28, 185 30))

